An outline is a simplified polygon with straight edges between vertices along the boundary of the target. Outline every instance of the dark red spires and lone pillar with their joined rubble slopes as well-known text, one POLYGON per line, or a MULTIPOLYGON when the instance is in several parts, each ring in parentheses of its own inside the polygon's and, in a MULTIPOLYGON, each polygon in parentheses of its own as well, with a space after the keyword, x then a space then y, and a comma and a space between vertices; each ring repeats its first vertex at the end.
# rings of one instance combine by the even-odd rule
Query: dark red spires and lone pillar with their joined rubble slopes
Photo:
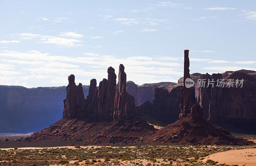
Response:
MULTIPOLYGON (((190 78, 188 50, 184 51, 184 79, 190 78)), ((175 89, 175 88, 174 88, 175 89)), ((75 76, 68 77, 67 97, 63 100, 63 119, 53 125, 22 138, 19 141, 84 141, 95 144, 100 143, 194 143, 194 144, 253 144, 251 141, 233 137, 227 130, 215 127, 203 119, 203 108, 196 104, 191 95, 194 88, 183 87, 181 90, 181 103, 176 110, 179 118, 176 122, 167 125, 161 130, 156 130, 145 119, 133 115, 135 106, 134 97, 126 92, 126 73, 120 64, 118 82, 116 84, 115 69, 108 68, 108 79, 99 83, 92 79, 89 93, 84 98, 82 84, 75 84, 75 76), (133 111, 131 111, 133 110, 133 111)), ((156 105, 165 100, 168 91, 155 89, 154 100, 156 105), (165 95, 159 95, 165 94, 165 95), (157 99, 158 98, 158 99, 157 99)), ((154 103, 153 100, 153 103, 154 103)), ((165 100, 166 101, 166 100, 165 100)), ((144 103, 145 107, 154 109, 154 104, 144 103)), ((145 108, 145 111, 148 109, 145 108)))

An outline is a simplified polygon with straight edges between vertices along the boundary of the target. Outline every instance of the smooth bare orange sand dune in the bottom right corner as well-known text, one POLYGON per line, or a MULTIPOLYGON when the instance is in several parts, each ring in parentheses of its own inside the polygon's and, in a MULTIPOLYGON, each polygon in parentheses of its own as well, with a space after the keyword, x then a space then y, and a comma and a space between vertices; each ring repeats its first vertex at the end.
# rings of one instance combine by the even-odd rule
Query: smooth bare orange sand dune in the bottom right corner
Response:
POLYGON ((207 159, 219 162, 218 164, 237 164, 246 166, 256 166, 256 148, 254 149, 241 149, 241 150, 228 150, 225 152, 215 153, 207 156, 207 159))

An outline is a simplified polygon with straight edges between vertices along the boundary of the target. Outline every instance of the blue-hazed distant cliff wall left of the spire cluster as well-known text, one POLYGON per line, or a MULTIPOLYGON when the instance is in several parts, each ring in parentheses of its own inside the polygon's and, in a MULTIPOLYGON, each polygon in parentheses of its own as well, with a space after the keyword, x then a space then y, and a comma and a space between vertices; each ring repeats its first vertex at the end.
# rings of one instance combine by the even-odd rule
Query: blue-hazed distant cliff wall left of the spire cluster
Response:
POLYGON ((0 133, 33 132, 60 119, 65 92, 66 87, 0 86, 0 133))

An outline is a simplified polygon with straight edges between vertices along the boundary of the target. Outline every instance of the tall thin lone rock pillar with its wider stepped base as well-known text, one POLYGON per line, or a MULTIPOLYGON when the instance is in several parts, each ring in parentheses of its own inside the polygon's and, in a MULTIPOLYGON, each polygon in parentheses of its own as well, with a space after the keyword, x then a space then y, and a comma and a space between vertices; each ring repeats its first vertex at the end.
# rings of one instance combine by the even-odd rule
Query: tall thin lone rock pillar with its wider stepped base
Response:
POLYGON ((189 58, 188 58, 188 50, 184 51, 184 77, 183 77, 183 89, 182 92, 182 102, 179 106, 179 118, 183 117, 191 117, 191 118, 202 118, 203 109, 194 105, 194 102, 191 98, 191 88, 187 88, 185 86, 186 79, 190 79, 189 74, 189 58))

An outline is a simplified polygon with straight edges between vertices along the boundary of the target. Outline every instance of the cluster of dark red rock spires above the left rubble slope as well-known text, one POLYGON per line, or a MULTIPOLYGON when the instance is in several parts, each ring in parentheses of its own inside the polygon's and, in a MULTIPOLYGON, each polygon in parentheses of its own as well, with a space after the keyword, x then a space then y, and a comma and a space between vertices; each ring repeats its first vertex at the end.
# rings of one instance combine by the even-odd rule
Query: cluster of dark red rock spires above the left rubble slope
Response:
POLYGON ((135 106, 134 97, 126 92, 126 73, 123 64, 119 66, 117 84, 115 69, 109 67, 108 79, 104 78, 99 83, 99 90, 96 85, 96 79, 92 79, 88 96, 84 98, 82 84, 76 86, 75 76, 68 76, 67 98, 63 100, 63 118, 92 116, 99 119, 129 119, 132 117, 130 105, 135 106))

